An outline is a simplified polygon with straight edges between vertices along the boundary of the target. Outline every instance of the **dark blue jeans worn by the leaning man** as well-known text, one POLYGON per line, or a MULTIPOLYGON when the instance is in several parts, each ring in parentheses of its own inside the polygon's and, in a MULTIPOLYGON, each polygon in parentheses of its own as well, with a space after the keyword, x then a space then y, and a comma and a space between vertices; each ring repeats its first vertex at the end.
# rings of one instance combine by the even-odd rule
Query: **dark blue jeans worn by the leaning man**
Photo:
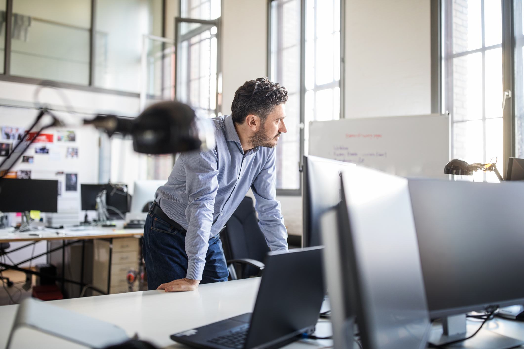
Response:
MULTIPOLYGON (((146 262, 147 286, 150 290, 185 277, 188 270, 185 231, 180 232, 152 212, 147 214, 142 251, 146 262)), ((222 242, 217 234, 209 239, 200 283, 227 281, 228 275, 222 242)))

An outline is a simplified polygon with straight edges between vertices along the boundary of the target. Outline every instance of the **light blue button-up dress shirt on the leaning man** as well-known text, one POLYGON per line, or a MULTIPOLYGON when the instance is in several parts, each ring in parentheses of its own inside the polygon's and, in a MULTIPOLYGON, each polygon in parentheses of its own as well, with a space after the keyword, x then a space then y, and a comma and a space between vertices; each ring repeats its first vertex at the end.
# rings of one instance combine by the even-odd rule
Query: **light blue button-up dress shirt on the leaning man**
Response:
POLYGON ((155 200, 172 220, 187 230, 186 277, 202 279, 208 240, 233 215, 249 188, 255 194, 259 226, 269 248, 285 250, 287 230, 276 199, 275 148, 246 152, 231 115, 212 118, 216 145, 208 151, 182 153, 155 200))

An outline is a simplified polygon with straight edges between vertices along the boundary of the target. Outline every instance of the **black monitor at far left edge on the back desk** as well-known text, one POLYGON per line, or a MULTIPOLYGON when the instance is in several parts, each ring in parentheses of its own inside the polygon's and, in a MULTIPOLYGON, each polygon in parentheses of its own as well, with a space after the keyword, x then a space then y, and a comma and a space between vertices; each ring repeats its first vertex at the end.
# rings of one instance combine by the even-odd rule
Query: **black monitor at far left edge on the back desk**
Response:
POLYGON ((57 212, 58 181, 6 179, 0 181, 0 211, 57 212))

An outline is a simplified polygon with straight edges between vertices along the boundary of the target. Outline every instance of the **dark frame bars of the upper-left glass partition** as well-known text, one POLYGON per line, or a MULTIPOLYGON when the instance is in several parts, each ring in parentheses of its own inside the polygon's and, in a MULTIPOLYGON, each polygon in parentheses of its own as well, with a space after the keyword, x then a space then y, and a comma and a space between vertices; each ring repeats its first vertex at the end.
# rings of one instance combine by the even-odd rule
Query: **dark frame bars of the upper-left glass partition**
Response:
MULTIPOLYGON (((91 0, 91 28, 89 29, 89 82, 88 85, 64 83, 53 81, 57 86, 62 88, 75 89, 79 91, 105 93, 119 96, 139 97, 139 92, 118 91, 115 89, 108 89, 94 86, 95 76, 95 33, 96 33, 96 1, 91 0)), ((13 2, 14 0, 6 0, 6 20, 5 20, 5 46, 4 46, 4 73, 0 74, 0 81, 16 82, 23 84, 40 85, 45 80, 33 77, 25 77, 18 75, 11 75, 11 34, 13 22, 13 2)), ((166 27, 166 0, 162 0, 162 35, 166 27)))

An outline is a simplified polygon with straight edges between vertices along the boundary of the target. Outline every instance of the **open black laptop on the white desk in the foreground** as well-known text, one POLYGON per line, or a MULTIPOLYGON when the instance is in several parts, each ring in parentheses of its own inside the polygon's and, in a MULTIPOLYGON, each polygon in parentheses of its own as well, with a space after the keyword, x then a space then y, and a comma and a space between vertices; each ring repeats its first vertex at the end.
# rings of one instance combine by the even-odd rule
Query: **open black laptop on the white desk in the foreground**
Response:
POLYGON ((322 246, 269 252, 253 313, 171 335, 196 348, 276 348, 312 333, 324 299, 322 246))

